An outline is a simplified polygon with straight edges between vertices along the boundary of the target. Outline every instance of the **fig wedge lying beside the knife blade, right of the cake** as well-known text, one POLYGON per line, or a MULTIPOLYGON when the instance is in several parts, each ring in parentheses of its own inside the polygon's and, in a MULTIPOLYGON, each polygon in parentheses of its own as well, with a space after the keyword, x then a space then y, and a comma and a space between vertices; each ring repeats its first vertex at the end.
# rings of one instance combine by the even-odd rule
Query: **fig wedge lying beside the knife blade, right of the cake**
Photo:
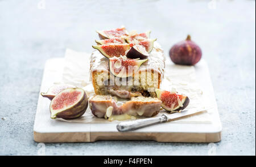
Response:
POLYGON ((185 109, 189 104, 189 99, 185 95, 179 95, 177 92, 163 91, 155 89, 156 96, 162 101, 162 108, 169 112, 185 109))

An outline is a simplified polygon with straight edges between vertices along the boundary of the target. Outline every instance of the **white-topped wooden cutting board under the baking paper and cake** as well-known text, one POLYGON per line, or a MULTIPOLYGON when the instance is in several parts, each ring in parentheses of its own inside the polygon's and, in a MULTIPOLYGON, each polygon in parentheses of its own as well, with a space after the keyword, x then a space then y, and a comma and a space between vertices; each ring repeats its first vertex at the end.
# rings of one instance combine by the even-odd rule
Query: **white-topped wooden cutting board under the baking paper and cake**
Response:
MULTIPOLYGON (((63 58, 46 62, 40 92, 53 84, 53 78, 60 79, 63 58), (58 65, 58 66, 57 66, 58 65), (60 68, 60 69, 59 69, 60 68)), ((221 140, 221 122, 218 115, 212 82, 207 63, 202 59, 196 69, 196 78, 205 97, 214 105, 210 112, 210 123, 168 122, 143 129, 118 132, 117 123, 78 123, 56 121, 50 118, 49 100, 39 95, 34 123, 34 140, 43 143, 95 142, 96 140, 155 140, 157 142, 211 143, 221 140)))

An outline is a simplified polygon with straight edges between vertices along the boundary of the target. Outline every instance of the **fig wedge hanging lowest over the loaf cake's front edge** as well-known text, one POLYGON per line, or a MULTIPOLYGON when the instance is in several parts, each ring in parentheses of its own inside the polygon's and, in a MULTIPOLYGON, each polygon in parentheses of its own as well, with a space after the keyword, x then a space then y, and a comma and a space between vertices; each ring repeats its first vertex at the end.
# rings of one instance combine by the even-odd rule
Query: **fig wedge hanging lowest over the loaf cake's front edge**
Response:
POLYGON ((109 58, 110 72, 119 78, 133 76, 148 59, 130 59, 126 56, 109 58))

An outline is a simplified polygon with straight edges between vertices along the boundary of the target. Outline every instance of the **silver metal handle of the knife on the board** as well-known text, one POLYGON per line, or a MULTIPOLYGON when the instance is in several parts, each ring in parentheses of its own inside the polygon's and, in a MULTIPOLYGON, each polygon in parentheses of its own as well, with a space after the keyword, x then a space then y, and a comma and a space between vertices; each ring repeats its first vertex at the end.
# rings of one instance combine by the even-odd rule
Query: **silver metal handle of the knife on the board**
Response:
POLYGON ((118 123, 117 130, 120 132, 136 130, 142 127, 155 125, 156 123, 167 122, 168 117, 167 115, 163 114, 160 117, 155 118, 145 118, 145 119, 138 119, 134 121, 126 121, 118 123))

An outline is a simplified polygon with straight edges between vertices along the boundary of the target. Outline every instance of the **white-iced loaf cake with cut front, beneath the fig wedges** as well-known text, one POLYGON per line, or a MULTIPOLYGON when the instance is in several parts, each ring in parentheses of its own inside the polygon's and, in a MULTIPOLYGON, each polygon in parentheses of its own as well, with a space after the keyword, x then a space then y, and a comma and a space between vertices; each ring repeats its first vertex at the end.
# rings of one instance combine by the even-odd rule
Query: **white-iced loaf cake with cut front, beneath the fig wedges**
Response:
MULTIPOLYGON (((156 97, 154 89, 160 87, 164 73, 164 55, 158 42, 149 53, 148 61, 144 62, 139 70, 128 78, 118 78, 109 70, 109 59, 95 50, 90 58, 90 79, 96 95, 115 95, 132 93, 131 97, 156 97)), ((119 96, 120 97, 120 96, 119 96)), ((122 97, 122 96, 121 96, 122 97)), ((122 97, 123 98, 123 97, 122 97)))

